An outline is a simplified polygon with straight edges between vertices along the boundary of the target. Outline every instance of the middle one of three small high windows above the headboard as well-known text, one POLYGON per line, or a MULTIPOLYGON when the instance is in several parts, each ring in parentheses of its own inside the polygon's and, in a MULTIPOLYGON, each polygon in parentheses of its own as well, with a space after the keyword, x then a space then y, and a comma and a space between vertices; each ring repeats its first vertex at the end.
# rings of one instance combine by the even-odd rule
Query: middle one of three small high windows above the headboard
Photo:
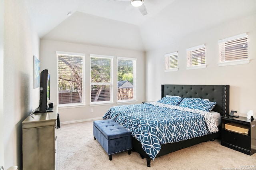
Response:
POLYGON ((206 68, 204 44, 187 49, 187 69, 199 68, 206 68))

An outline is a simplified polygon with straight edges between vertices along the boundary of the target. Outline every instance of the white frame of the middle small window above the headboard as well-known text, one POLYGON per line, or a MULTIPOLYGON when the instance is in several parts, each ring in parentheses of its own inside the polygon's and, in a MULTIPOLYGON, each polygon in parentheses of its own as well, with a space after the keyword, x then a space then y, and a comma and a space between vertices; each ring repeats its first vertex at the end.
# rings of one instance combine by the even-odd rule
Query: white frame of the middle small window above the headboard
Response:
POLYGON ((202 68, 206 68, 206 46, 205 44, 202 45, 197 45, 191 48, 186 49, 187 54, 186 54, 186 58, 187 58, 187 67, 186 69, 202 69, 202 68), (190 53, 193 53, 193 51, 199 50, 199 49, 204 49, 204 64, 198 64, 198 65, 192 65, 192 55, 190 55, 190 53))

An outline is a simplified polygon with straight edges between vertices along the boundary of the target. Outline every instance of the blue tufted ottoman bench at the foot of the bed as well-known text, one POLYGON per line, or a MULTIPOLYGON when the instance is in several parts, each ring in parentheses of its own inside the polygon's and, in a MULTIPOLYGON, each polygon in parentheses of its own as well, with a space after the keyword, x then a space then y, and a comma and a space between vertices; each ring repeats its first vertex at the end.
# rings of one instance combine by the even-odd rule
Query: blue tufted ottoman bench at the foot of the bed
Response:
POLYGON ((112 119, 94 121, 93 136, 108 153, 109 160, 112 160, 112 154, 128 150, 131 154, 132 136, 131 132, 122 127, 112 119))

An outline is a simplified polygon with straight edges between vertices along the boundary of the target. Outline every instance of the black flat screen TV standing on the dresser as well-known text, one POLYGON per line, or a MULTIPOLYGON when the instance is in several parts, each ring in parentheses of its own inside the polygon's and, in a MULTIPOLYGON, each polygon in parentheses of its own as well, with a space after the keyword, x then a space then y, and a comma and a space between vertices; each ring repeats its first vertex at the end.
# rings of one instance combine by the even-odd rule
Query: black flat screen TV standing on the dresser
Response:
POLYGON ((47 112, 50 100, 50 74, 45 69, 40 73, 40 102, 37 112, 47 112))

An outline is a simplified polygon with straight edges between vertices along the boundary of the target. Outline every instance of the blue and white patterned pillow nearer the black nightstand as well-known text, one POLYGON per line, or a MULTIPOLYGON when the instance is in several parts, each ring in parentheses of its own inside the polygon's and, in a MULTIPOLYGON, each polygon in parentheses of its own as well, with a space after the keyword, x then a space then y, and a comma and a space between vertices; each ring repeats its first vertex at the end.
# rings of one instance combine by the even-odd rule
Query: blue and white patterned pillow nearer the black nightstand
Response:
POLYGON ((207 101, 200 98, 184 98, 179 106, 210 112, 215 105, 216 102, 207 101))

